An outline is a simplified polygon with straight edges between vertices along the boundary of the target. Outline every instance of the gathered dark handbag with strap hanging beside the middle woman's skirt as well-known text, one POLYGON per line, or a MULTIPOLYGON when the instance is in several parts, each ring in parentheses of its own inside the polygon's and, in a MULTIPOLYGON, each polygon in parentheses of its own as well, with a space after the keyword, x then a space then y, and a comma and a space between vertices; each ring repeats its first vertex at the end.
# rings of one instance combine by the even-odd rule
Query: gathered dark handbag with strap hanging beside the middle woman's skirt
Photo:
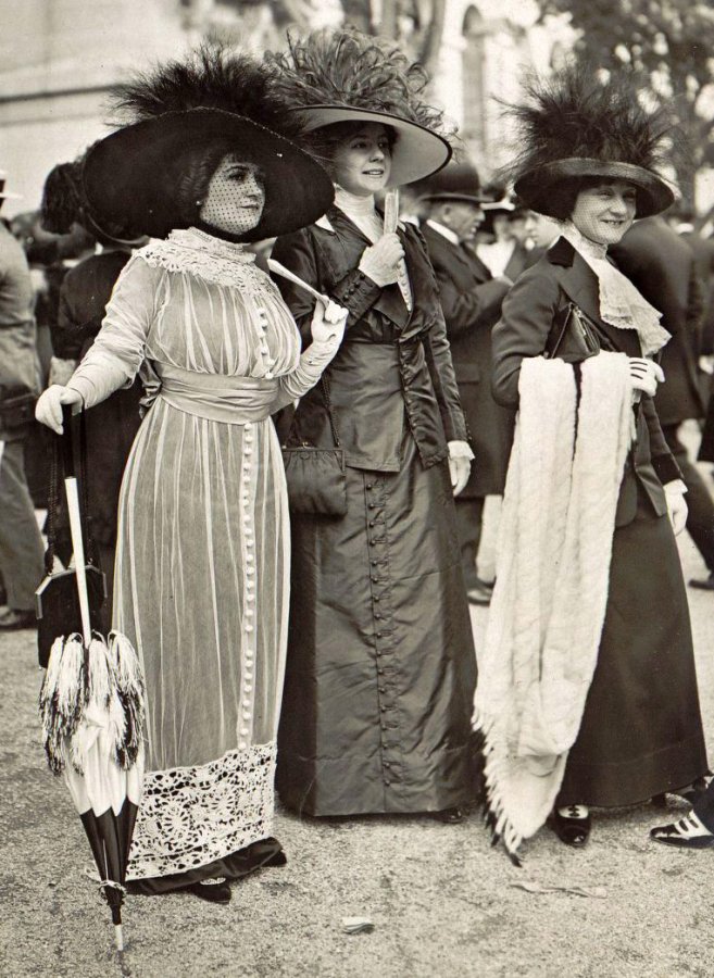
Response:
POLYGON ((347 472, 326 379, 323 394, 335 440, 334 449, 303 443, 283 447, 288 506, 299 516, 347 516, 347 472))

